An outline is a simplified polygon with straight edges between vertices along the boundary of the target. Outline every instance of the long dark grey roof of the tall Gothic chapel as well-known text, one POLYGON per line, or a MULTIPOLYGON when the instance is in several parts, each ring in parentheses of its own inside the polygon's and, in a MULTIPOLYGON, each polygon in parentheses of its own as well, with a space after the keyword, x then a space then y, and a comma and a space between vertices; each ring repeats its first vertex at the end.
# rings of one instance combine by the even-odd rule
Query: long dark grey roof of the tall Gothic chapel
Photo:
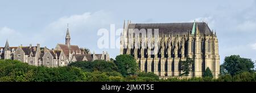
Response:
MULTIPOLYGON (((200 34, 212 35, 207 23, 196 23, 200 34)), ((159 29, 159 37, 163 34, 173 34, 173 35, 184 35, 191 32, 193 28, 193 23, 149 23, 149 24, 129 24, 128 29, 152 29, 154 34, 154 29, 159 29)))

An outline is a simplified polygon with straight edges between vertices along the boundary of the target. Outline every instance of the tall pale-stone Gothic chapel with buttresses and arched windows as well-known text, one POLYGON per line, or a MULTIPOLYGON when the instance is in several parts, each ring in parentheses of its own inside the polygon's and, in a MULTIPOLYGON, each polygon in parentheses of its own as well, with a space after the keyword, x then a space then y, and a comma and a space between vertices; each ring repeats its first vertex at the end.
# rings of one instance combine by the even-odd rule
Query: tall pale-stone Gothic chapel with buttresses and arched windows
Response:
POLYGON ((141 72, 178 77, 182 73, 179 62, 187 56, 195 60, 189 77, 202 77, 209 67, 214 78, 218 78, 218 39, 207 23, 133 24, 128 21, 123 28, 120 54, 133 55, 141 72), (140 34, 143 32, 146 34, 140 34), (158 34, 154 34, 156 32, 158 34))

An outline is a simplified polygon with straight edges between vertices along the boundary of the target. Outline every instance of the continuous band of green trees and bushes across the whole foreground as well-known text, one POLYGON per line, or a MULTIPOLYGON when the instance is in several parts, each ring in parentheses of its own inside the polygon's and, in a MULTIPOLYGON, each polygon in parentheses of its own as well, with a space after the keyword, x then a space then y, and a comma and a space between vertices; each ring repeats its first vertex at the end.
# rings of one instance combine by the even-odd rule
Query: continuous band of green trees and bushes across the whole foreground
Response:
POLYGON ((138 72, 136 61, 129 55, 119 55, 116 60, 112 59, 111 61, 77 61, 67 67, 57 68, 35 67, 17 60, 0 60, 0 82, 255 82, 256 73, 252 69, 254 66, 251 66, 251 62, 250 59, 236 55, 228 56, 224 65, 221 66, 222 74, 217 79, 212 78, 212 72, 209 68, 205 70, 202 78, 171 77, 160 79, 151 72, 138 72), (236 64, 235 67, 230 66, 234 64, 236 64), (235 68, 239 69, 232 70, 235 68))

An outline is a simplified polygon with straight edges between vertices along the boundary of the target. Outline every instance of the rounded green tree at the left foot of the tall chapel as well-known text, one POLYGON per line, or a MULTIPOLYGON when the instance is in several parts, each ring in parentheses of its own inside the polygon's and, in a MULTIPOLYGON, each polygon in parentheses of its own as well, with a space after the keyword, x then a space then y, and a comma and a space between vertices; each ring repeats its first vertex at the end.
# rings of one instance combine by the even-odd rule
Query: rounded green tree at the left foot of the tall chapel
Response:
POLYGON ((115 65, 117 65, 118 72, 123 76, 129 76, 137 72, 138 64, 136 60, 131 55, 118 55, 115 57, 114 61, 115 65))

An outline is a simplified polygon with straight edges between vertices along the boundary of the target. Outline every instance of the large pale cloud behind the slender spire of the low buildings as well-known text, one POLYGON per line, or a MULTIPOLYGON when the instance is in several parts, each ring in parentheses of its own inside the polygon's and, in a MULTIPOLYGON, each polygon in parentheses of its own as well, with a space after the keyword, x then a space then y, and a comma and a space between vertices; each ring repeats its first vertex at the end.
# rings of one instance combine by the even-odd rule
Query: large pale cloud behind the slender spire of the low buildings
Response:
MULTIPOLYGON (((80 44, 85 41, 92 41, 97 37, 97 30, 112 22, 109 12, 85 12, 81 15, 63 16, 49 23, 43 31, 36 35, 42 43, 64 43, 67 24, 69 24, 69 32, 71 33, 71 41, 80 44), (80 41, 80 42, 79 42, 80 41)), ((73 42, 74 43, 74 42, 73 42)))

